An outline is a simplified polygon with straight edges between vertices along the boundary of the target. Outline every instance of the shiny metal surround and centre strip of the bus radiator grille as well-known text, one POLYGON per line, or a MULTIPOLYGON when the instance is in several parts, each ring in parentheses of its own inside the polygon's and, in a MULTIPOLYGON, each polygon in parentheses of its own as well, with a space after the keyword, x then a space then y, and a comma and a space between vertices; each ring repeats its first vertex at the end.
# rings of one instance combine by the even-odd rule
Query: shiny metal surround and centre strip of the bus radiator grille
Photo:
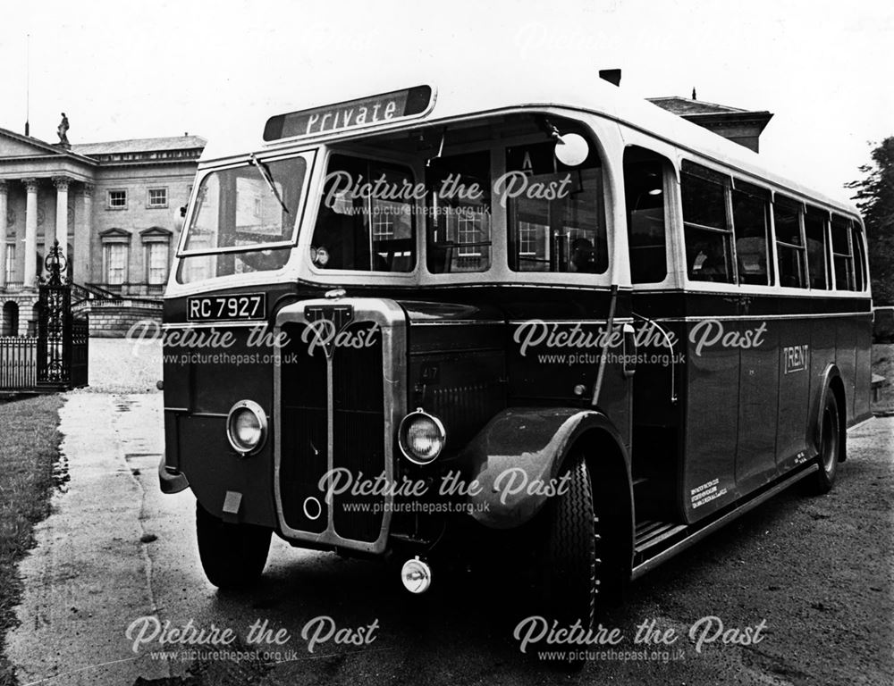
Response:
MULTIPOLYGON (((305 307, 351 305, 354 308, 354 317, 351 322, 375 322, 382 331, 382 385, 384 393, 384 473, 385 478, 394 479, 394 436, 398 423, 407 414, 407 370, 403 364, 407 350, 407 320, 401 306, 393 300, 347 297, 338 299, 316 298, 302 300, 298 303, 286 305, 276 315, 274 336, 279 336, 283 324, 286 322, 308 323, 304 315, 305 307)), ((316 544, 331 545, 339 548, 362 550, 369 553, 383 553, 388 543, 388 533, 391 528, 393 496, 385 495, 385 506, 382 518, 382 527, 375 541, 366 542, 342 538, 333 526, 333 507, 329 508, 329 518, 325 531, 314 533, 312 531, 300 531, 292 529, 285 522, 283 515, 283 496, 280 490, 280 474, 282 469, 283 446, 283 374, 282 360, 276 356, 274 360, 274 497, 276 501, 276 515, 279 519, 280 531, 283 536, 294 540, 307 540, 316 544)), ((332 403, 332 362, 327 362, 328 390, 328 439, 329 439, 329 468, 334 464, 333 456, 333 403, 332 403)))

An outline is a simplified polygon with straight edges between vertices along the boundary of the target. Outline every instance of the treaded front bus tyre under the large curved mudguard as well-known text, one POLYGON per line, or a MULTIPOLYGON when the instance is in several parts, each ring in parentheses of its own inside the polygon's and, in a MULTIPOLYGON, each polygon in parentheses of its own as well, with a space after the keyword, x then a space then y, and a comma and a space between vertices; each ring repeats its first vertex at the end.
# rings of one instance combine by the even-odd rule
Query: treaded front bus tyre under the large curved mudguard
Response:
POLYGON ((586 631, 595 623, 602 537, 593 484, 582 456, 572 460, 568 473, 569 488, 554 498, 547 523, 542 562, 544 611, 561 626, 579 619, 586 631))

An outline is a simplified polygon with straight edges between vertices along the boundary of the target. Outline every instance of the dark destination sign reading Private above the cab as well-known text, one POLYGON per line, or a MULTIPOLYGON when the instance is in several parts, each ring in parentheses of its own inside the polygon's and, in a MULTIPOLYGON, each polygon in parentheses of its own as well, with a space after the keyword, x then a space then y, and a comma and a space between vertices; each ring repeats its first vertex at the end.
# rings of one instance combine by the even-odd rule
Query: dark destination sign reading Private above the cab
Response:
POLYGON ((374 126, 426 113, 432 105, 432 88, 417 86, 394 90, 379 96, 348 100, 335 105, 315 107, 286 114, 277 114, 267 120, 265 140, 318 136, 334 131, 374 126))

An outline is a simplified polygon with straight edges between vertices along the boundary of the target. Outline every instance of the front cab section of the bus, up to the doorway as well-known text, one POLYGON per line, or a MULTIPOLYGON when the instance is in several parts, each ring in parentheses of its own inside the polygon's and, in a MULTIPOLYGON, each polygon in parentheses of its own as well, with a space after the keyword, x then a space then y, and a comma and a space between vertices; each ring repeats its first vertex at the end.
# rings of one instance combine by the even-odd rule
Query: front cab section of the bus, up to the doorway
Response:
MULTIPOLYGON (((274 117, 263 149, 202 164, 165 296, 163 489, 195 493, 218 586, 257 577, 273 531, 394 553, 409 590, 436 544, 533 531, 553 607, 586 610, 595 577, 562 551, 628 556, 597 550, 583 456, 629 473, 632 369, 599 357, 633 345, 611 125, 433 105, 422 87, 274 117), (537 361, 569 337, 589 358, 537 361)), ((629 528, 619 493, 598 507, 629 528)))

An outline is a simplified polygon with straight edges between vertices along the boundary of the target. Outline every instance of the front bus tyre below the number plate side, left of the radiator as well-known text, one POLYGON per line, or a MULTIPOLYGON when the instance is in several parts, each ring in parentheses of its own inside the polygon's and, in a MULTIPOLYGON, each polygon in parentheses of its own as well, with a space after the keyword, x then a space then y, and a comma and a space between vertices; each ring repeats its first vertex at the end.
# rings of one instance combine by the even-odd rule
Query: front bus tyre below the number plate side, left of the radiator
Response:
POLYGON ((208 581, 219 589, 240 589, 257 581, 270 550, 271 530, 231 524, 196 503, 198 556, 208 581))

